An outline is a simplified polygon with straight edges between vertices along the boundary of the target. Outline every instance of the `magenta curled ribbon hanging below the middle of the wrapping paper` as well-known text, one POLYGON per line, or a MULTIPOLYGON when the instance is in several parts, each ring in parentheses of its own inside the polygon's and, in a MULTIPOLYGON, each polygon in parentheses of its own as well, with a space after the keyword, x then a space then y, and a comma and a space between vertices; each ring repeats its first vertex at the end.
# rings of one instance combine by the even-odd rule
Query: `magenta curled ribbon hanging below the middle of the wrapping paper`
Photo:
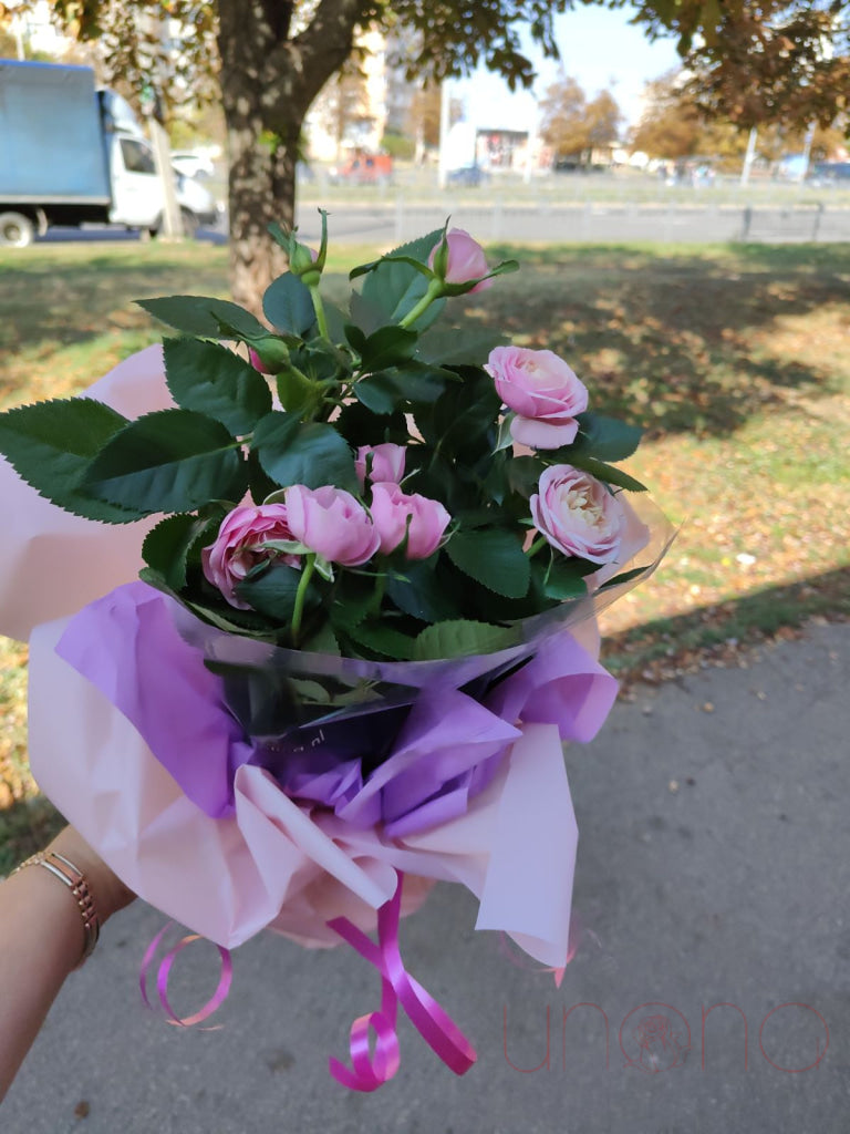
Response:
POLYGON ((396 894, 377 912, 377 943, 347 917, 334 917, 329 926, 381 973, 381 1007, 359 1016, 351 1025, 349 1051, 352 1068, 329 1060, 331 1075, 352 1091, 376 1091, 399 1069, 396 1032, 398 1005, 440 1059, 456 1075, 464 1075, 478 1058, 475 1049, 447 1012, 405 968, 399 950, 399 916, 403 875, 396 894), (375 1053, 369 1053, 369 1030, 375 1033, 375 1053))

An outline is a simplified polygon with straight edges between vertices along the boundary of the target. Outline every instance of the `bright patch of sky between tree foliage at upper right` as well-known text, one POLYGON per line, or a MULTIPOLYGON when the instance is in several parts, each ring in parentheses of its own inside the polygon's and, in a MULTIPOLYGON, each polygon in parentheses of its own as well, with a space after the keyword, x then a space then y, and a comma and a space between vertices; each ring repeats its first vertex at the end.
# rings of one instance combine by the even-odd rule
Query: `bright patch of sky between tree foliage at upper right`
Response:
MULTIPOLYGON (((568 75, 578 79, 588 96, 611 86, 626 118, 637 121, 645 83, 679 64, 675 40, 651 43, 645 32, 629 25, 634 9, 609 10, 579 6, 555 17, 555 39, 568 75)), ((534 93, 511 94, 496 75, 479 69, 469 79, 452 84, 464 99, 466 117, 475 126, 526 129, 535 116, 535 95, 545 93, 558 74, 558 64, 543 59, 527 45, 537 69, 534 93)))

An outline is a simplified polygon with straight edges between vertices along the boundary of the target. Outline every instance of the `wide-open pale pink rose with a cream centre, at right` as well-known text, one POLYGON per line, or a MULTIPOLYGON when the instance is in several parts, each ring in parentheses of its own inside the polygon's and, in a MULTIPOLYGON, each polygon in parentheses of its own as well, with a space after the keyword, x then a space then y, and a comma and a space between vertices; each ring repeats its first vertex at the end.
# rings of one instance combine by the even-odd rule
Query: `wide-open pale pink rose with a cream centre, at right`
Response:
POLYGON ((553 548, 595 564, 618 561, 626 511, 595 476, 571 465, 552 465, 529 505, 535 526, 553 548))

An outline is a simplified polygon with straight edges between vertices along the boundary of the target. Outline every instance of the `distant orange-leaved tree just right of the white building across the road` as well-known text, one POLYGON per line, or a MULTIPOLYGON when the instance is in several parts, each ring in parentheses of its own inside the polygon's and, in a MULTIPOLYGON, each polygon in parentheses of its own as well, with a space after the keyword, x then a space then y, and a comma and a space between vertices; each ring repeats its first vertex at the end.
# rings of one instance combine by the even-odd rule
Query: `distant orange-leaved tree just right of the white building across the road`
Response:
POLYGON ((541 100, 541 135, 555 158, 589 163, 593 151, 617 141, 622 113, 610 91, 589 102, 581 86, 563 71, 541 100))

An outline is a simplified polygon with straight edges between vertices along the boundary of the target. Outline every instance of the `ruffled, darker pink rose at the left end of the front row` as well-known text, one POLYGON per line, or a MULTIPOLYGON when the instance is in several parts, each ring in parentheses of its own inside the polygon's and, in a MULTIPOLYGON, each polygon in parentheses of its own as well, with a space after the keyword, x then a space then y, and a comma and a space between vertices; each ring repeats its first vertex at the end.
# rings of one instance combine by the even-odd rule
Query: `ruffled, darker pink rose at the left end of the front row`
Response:
MULTIPOLYGON (((263 559, 279 555, 264 550, 269 540, 291 540, 283 503, 262 503, 233 508, 221 523, 215 542, 201 552, 201 566, 213 586, 218 586, 231 607, 249 610, 250 604, 237 598, 236 584, 263 559)), ((281 561, 296 566, 297 556, 284 555, 281 561)))

